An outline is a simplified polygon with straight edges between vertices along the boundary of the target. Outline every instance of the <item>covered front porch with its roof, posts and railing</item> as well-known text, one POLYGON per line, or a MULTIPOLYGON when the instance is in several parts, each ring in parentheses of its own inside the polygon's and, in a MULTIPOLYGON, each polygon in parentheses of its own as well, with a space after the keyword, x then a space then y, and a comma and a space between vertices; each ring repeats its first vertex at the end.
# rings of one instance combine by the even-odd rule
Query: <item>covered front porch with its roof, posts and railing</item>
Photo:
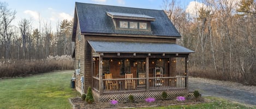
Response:
POLYGON ((192 50, 174 43, 88 41, 95 94, 186 90, 192 50))

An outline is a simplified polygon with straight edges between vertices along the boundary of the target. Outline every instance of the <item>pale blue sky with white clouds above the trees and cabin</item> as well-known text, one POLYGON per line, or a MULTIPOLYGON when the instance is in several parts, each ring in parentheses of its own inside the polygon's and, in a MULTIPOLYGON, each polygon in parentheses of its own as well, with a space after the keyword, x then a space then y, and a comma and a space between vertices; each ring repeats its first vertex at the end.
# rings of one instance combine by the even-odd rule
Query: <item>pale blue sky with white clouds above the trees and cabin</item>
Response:
MULTIPOLYGON (((145 8, 163 10, 164 0, 0 0, 8 4, 8 9, 16 11, 13 25, 18 25, 23 18, 31 20, 32 28, 51 23, 56 29, 58 22, 64 19, 72 20, 74 17, 75 2, 115 5, 121 7, 145 8)), ((171 0, 170 0, 171 1, 171 0)), ((194 0, 176 0, 176 4, 187 9, 194 0)))

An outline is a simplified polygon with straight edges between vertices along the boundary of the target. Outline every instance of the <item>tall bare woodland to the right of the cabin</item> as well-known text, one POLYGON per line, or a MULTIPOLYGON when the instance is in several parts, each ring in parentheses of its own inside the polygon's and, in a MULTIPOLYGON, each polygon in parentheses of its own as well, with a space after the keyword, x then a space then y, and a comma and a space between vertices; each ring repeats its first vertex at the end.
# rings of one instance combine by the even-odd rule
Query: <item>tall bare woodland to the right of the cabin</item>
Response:
POLYGON ((256 85, 256 3, 254 0, 203 0, 191 15, 164 1, 164 9, 192 49, 189 75, 256 85))

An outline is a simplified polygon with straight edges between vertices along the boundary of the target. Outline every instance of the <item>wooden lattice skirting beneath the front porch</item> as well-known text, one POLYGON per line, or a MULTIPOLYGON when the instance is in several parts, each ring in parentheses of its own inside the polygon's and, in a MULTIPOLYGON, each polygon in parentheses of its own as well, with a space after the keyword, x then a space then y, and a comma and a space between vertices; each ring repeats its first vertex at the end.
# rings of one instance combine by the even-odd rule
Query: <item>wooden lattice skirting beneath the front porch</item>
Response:
MULTIPOLYGON (((134 93, 120 93, 120 94, 107 94, 107 95, 99 95, 98 93, 93 93, 94 98, 100 102, 109 102, 110 100, 118 100, 118 101, 128 101, 129 95, 133 95, 134 100, 145 100, 148 97, 153 97, 156 99, 162 99, 163 91, 155 91, 155 92, 134 92, 134 93)), ((175 90, 175 91, 165 91, 168 94, 168 98, 172 99, 178 96, 183 97, 193 97, 193 93, 188 92, 187 89, 175 90)))

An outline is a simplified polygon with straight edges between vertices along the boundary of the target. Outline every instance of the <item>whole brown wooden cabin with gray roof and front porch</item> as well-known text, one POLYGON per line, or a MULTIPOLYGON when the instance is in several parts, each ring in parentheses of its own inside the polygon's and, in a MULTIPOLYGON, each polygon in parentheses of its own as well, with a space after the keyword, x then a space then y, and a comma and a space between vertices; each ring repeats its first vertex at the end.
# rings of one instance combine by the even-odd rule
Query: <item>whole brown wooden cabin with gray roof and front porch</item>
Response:
POLYGON ((75 89, 99 101, 188 95, 188 55, 163 10, 75 3, 75 89))

